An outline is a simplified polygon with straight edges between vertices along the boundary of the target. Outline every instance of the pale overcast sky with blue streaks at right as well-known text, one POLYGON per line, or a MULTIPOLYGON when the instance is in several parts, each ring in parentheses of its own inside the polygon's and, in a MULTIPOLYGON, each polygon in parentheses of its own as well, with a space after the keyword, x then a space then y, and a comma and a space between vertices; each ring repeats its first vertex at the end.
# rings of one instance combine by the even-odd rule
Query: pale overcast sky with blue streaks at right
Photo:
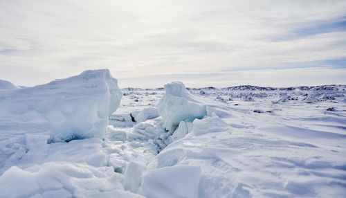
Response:
POLYGON ((346 84, 346 1, 0 0, 0 79, 120 87, 346 84))

